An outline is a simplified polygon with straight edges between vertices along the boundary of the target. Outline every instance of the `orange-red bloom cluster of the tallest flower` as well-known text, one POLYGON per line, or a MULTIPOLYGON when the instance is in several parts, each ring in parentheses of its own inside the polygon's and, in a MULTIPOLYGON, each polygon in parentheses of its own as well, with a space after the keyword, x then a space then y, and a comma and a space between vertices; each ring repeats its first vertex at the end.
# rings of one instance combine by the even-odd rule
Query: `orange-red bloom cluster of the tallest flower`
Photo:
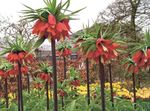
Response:
POLYGON ((56 18, 49 14, 47 21, 37 20, 32 33, 40 37, 52 37, 59 40, 60 38, 69 37, 69 31, 68 19, 57 22, 56 18))

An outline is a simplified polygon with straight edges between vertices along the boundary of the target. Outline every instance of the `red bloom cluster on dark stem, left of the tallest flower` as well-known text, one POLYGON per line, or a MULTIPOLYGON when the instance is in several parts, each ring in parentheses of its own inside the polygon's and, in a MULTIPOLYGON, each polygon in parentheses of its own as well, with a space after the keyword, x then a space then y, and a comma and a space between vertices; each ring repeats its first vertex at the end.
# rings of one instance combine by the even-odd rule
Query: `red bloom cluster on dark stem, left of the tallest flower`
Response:
POLYGON ((11 52, 8 54, 7 60, 12 63, 17 63, 17 62, 22 63, 23 61, 29 63, 33 61, 33 55, 25 51, 11 52))

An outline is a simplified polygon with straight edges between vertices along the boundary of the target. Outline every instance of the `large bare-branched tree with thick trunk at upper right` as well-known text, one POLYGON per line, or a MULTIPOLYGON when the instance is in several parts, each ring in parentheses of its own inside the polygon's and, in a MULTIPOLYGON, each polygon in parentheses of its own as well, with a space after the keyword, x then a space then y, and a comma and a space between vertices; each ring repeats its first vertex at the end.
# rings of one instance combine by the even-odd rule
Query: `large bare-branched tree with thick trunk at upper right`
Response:
POLYGON ((139 29, 150 24, 149 0, 116 0, 106 10, 100 12, 98 22, 120 23, 130 30, 130 37, 137 40, 139 29), (128 25, 124 25, 128 24, 128 25))

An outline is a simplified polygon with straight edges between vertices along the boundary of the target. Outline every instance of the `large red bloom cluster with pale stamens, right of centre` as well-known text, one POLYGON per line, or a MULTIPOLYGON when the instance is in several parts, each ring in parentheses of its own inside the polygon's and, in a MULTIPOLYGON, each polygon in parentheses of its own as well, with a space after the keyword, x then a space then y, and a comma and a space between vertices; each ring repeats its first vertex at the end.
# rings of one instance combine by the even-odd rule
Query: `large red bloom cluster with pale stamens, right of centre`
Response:
POLYGON ((118 44, 113 43, 111 40, 105 40, 99 38, 96 41, 96 50, 87 54, 88 58, 94 58, 96 61, 101 56, 102 62, 106 62, 110 59, 115 59, 118 56, 116 49, 119 47, 118 44))

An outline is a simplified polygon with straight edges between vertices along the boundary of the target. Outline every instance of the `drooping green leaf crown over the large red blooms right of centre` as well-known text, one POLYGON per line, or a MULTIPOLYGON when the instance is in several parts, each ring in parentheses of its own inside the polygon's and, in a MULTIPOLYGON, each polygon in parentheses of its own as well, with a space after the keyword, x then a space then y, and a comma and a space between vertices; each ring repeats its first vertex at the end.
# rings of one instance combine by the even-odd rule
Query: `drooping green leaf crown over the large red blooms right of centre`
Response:
MULTIPOLYGON (((92 27, 86 27, 81 32, 77 33, 75 42, 76 50, 80 50, 83 55, 97 50, 96 42, 98 38, 111 40, 112 42, 124 46, 125 39, 121 37, 120 27, 109 24, 95 23, 92 27)), ((123 52, 121 48, 116 49, 118 52, 123 52)))

